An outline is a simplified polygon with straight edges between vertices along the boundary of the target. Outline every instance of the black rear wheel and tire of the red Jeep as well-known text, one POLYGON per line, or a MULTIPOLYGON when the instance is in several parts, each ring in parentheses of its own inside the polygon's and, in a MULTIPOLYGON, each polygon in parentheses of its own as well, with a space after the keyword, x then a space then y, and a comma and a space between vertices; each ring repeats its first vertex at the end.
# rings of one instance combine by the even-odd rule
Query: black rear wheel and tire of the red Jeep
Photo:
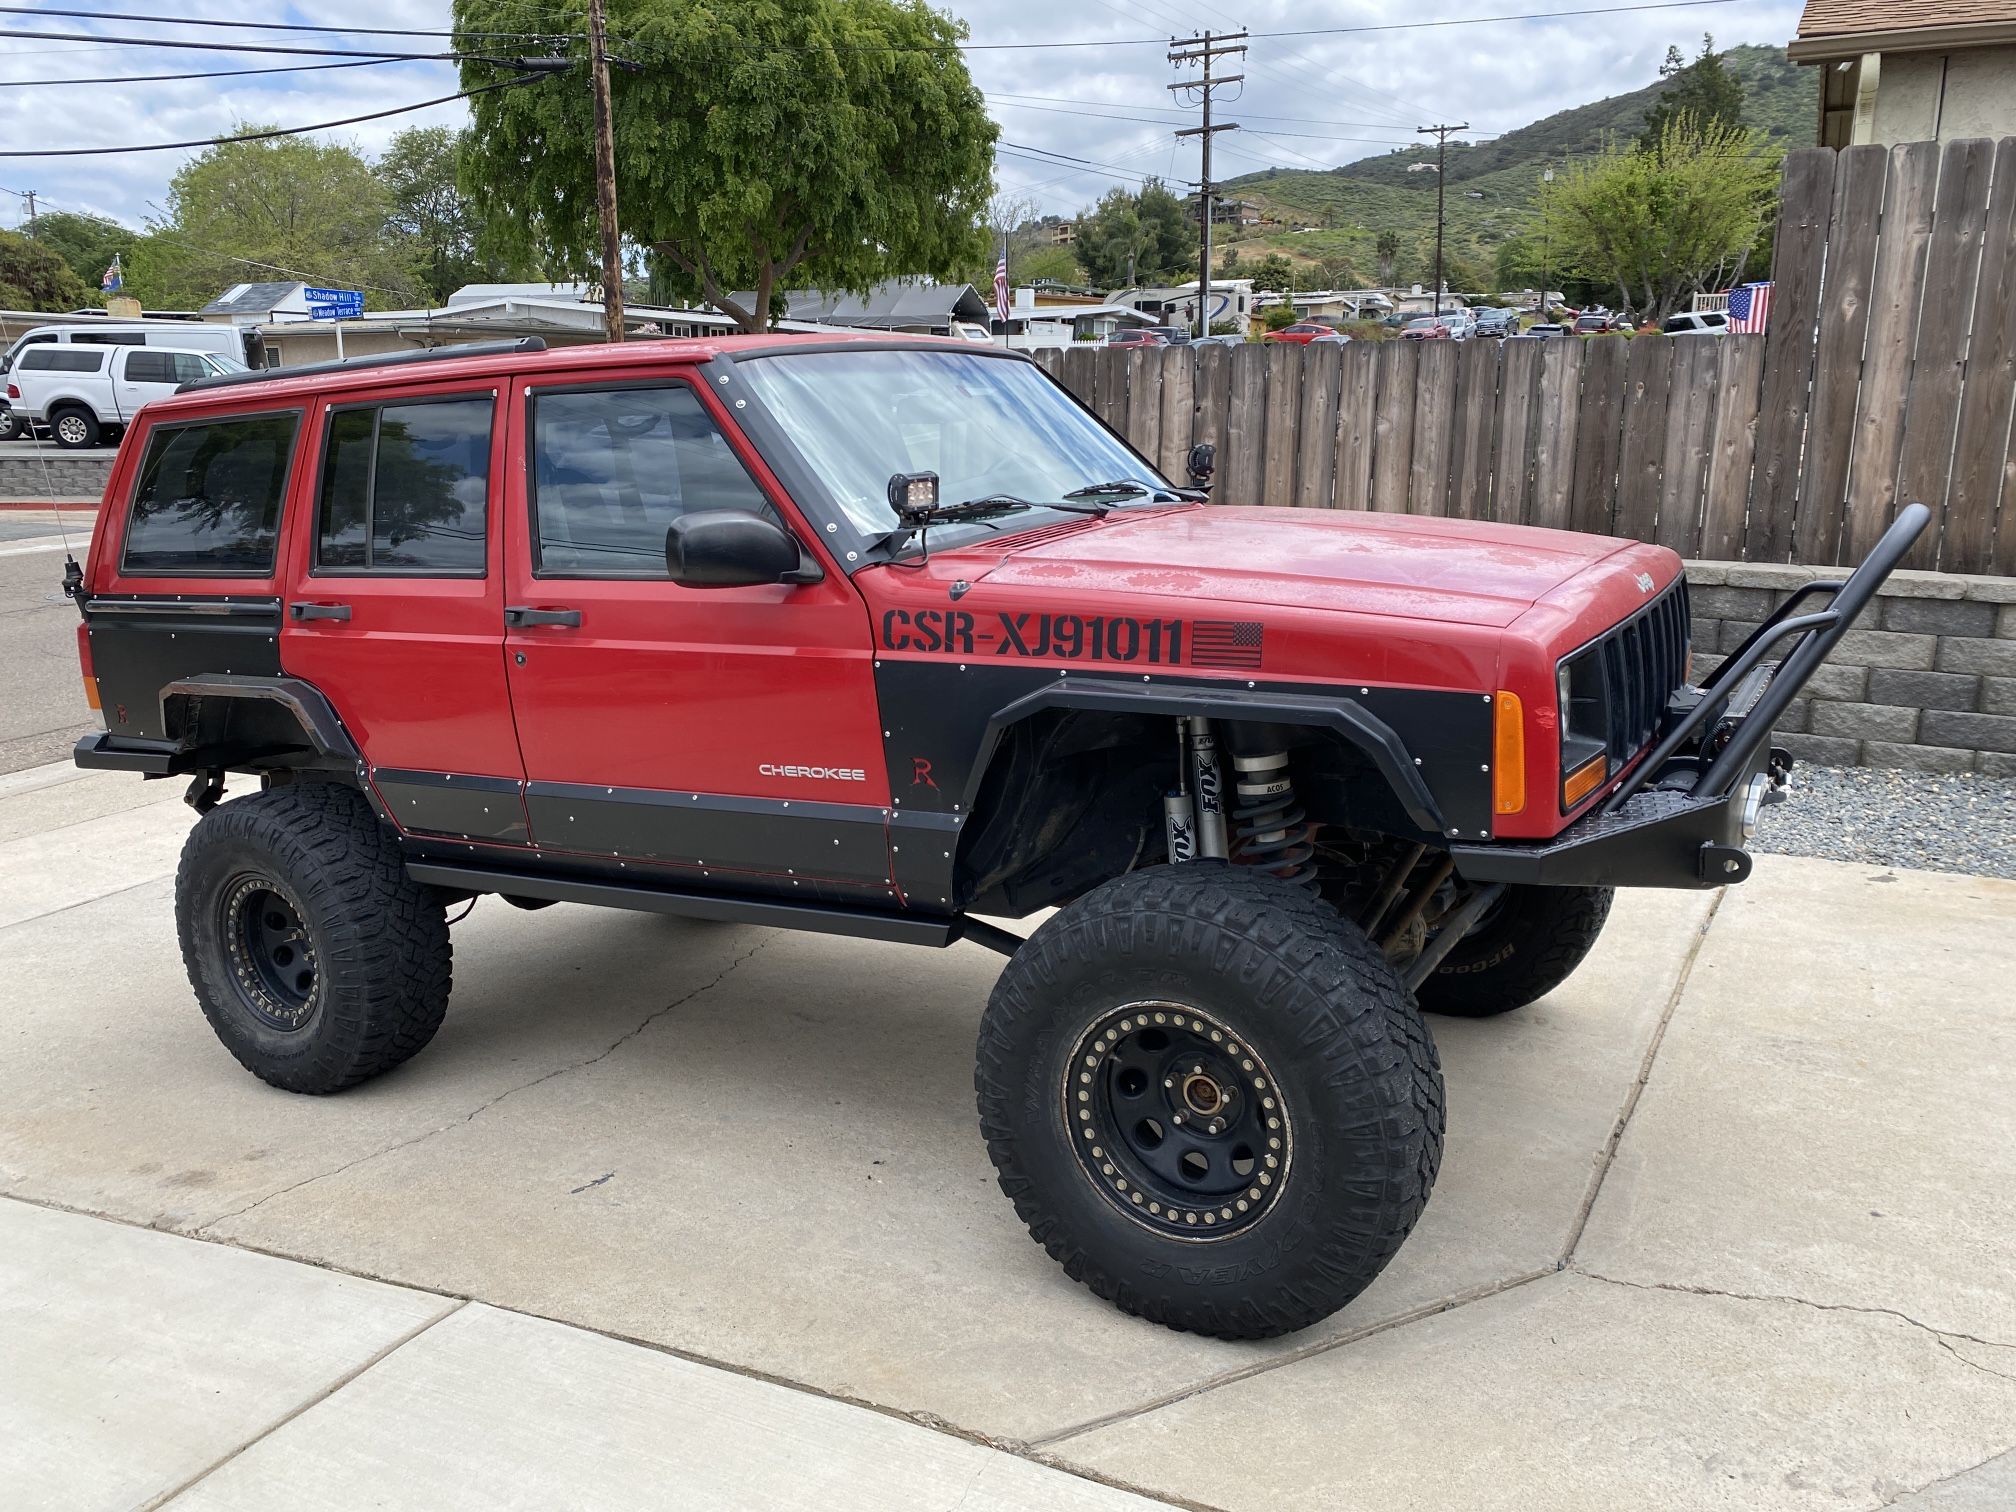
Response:
POLYGON ((442 899, 405 875, 391 833, 341 784, 268 788, 198 821, 175 929, 218 1038, 290 1093, 391 1070, 448 1012, 442 899))

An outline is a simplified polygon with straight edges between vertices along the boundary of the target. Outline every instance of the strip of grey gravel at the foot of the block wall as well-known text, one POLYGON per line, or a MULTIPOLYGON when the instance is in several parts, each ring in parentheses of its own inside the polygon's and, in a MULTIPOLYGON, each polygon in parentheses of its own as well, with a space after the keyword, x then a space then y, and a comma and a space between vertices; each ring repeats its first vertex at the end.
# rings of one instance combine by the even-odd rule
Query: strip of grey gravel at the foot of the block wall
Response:
POLYGON ((1800 762, 1752 849, 2016 881, 2016 780, 1800 762))

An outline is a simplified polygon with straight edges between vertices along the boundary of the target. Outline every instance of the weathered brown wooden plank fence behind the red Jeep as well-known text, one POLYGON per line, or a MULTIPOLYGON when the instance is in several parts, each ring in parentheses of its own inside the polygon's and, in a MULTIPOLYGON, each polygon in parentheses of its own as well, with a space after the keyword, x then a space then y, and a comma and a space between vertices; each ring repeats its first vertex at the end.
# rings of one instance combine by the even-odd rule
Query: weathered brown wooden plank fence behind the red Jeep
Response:
POLYGON ((1792 153, 1774 282, 1768 337, 1038 361, 1175 478, 1193 442, 1214 442, 1226 504, 1839 562, 1917 498, 1939 524, 1913 564, 2016 571, 2016 139, 1792 153))

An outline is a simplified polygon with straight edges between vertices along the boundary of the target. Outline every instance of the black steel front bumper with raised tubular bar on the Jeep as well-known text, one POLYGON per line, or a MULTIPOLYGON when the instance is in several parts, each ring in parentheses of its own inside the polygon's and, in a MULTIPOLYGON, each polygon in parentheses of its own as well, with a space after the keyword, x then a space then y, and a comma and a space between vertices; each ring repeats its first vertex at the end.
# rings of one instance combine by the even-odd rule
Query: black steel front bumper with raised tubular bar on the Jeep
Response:
POLYGON ((1845 583, 1792 593, 1699 687, 1667 708, 1651 750, 1601 808, 1550 841, 1456 845, 1472 883, 1536 887, 1722 887, 1750 875, 1758 812, 1786 796, 1792 758, 1772 726, 1869 607, 1931 520, 1907 504, 1845 583), (1794 613, 1824 597, 1824 609, 1794 613), (1766 655, 1790 643, 1778 661, 1766 655))

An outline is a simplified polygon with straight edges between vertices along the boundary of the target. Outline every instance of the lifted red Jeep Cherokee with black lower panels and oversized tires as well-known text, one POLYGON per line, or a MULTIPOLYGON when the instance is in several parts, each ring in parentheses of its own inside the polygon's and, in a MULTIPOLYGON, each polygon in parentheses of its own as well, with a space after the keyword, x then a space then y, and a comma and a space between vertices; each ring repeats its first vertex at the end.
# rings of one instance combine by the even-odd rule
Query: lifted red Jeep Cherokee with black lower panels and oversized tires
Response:
POLYGON ((994 948, 1030 1234, 1129 1312, 1286 1333, 1427 1202, 1421 1010, 1546 994, 1615 887, 1742 881, 1772 722, 1927 516, 1693 685, 1669 550, 1214 508, 1210 466, 966 343, 196 383, 71 564, 77 760, 190 778, 190 982, 296 1093, 427 1042, 480 893, 994 948))

